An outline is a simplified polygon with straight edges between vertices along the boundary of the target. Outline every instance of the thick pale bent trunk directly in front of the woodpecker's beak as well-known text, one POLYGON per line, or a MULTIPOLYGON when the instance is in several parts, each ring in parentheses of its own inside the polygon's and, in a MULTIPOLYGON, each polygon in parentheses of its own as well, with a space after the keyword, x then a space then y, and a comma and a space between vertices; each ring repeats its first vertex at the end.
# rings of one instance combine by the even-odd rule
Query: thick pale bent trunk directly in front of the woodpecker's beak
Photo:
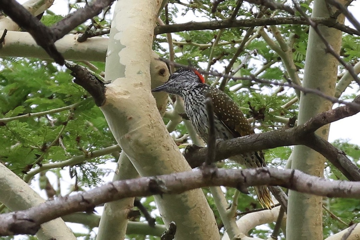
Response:
MULTIPOLYGON (((151 46, 160 4, 149 0, 116 3, 105 67, 105 79, 112 83, 107 85, 107 100, 101 109, 141 176, 190 170, 150 92, 151 46)), ((155 198, 165 223, 176 223, 177 240, 220 239, 201 189, 155 198)))

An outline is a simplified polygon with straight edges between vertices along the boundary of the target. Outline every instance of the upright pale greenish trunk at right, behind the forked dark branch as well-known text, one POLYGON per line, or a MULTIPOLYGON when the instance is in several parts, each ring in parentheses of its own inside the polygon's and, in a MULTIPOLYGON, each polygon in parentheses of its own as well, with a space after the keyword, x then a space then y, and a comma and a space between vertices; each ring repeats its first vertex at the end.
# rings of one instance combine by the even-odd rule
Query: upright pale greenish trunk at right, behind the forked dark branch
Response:
MULTIPOLYGON (((328 17, 329 12, 324 0, 315 0, 312 17, 328 17)), ((344 17, 340 16, 343 23, 344 17)), ((339 53, 341 46, 341 31, 325 26, 318 26, 322 35, 339 53)), ((303 87, 321 90, 324 94, 334 96, 337 78, 338 61, 325 51, 325 45, 310 28, 309 41, 306 51, 303 87)), ((298 124, 305 123, 311 117, 331 109, 332 103, 314 94, 301 93, 298 124)), ((329 125, 319 128, 316 134, 327 139, 329 125)), ((315 176, 323 176, 325 158, 307 148, 295 146, 292 154, 292 168, 315 176)), ((289 191, 289 205, 287 218, 287 238, 323 239, 322 226, 322 198, 295 191, 289 191)))

